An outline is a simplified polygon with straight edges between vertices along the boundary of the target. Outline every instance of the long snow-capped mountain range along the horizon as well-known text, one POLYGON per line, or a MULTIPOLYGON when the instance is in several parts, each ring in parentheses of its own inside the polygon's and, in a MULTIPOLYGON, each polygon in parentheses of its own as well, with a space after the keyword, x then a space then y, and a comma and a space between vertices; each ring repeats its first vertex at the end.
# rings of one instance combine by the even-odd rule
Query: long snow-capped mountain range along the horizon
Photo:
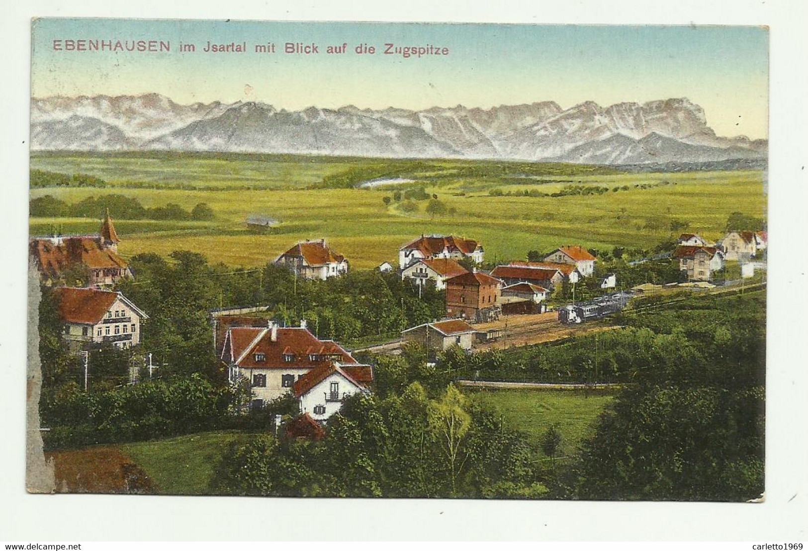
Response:
POLYGON ((226 151, 594 164, 765 159, 768 142, 717 137, 688 99, 478 107, 276 109, 182 105, 158 94, 32 99, 32 149, 226 151))

